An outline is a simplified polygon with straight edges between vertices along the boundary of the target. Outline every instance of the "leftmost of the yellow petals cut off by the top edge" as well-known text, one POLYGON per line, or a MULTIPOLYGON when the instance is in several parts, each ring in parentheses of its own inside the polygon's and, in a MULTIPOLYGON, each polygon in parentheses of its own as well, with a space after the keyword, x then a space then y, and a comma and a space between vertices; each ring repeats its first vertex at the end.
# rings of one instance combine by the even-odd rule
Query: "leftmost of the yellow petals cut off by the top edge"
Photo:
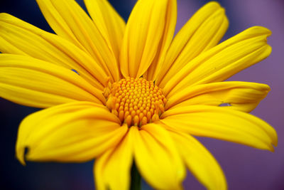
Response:
POLYGON ((37 0, 51 28, 92 55, 110 75, 119 80, 119 66, 109 39, 104 38, 89 16, 74 0, 37 0))

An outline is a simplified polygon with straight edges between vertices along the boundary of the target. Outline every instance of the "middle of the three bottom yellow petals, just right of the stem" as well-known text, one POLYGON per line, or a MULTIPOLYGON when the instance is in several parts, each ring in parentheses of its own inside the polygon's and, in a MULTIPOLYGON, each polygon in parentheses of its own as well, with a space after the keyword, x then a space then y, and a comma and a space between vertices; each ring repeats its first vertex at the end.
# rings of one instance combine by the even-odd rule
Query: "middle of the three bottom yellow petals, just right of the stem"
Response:
POLYGON ((170 134, 157 124, 133 128, 134 157, 141 176, 155 189, 181 189, 185 167, 170 134))

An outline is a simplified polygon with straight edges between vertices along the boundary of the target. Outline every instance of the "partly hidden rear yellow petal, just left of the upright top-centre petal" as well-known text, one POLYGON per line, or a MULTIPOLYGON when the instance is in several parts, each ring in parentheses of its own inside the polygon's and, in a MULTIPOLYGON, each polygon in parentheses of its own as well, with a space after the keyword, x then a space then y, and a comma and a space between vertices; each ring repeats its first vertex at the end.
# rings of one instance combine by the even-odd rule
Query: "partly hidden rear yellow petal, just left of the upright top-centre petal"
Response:
POLYGON ((84 0, 87 10, 105 39, 109 40, 111 47, 119 60, 119 50, 124 37, 124 19, 114 10, 107 0, 84 0))

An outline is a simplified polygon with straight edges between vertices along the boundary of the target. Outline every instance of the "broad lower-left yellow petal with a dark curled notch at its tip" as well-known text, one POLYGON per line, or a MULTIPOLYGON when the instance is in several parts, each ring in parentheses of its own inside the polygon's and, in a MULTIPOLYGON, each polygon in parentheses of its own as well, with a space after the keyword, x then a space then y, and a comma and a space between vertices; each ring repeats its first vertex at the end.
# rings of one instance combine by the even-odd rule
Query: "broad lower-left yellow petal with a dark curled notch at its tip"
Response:
POLYGON ((86 162, 116 146, 128 127, 107 108, 71 102, 26 117, 18 130, 16 156, 24 161, 86 162))

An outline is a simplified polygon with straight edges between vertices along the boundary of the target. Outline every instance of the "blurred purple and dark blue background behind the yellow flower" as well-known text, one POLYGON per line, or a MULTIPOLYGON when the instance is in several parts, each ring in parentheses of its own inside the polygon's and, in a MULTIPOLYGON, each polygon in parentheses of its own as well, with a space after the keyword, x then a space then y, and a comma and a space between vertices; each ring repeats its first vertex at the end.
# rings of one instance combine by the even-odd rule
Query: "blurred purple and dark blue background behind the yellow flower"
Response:
MULTIPOLYGON (((84 8, 82 0, 77 2, 84 8)), ((110 0, 110 2, 127 20, 136 0, 110 0)), ((178 0, 177 30, 207 2, 178 0)), ((221 164, 229 189, 284 189, 284 1, 238 0, 219 1, 219 3, 225 7, 230 21, 229 30, 223 41, 250 26, 265 26, 273 32, 268 38, 268 43, 273 48, 271 56, 229 80, 259 82, 271 86, 271 93, 256 110, 253 110, 252 114, 275 127, 279 144, 275 152, 268 152, 216 139, 198 139, 221 164)), ((52 32, 33 0, 2 0, 0 12, 13 14, 52 32)), ((0 98, 2 149, 0 189, 94 189, 93 162, 84 164, 28 162, 27 166, 23 167, 16 160, 14 149, 18 125, 23 117, 36 110, 0 98)), ((191 174, 187 175, 184 186, 185 189, 204 189, 191 174)), ((151 188, 144 182, 143 189, 151 188)))

